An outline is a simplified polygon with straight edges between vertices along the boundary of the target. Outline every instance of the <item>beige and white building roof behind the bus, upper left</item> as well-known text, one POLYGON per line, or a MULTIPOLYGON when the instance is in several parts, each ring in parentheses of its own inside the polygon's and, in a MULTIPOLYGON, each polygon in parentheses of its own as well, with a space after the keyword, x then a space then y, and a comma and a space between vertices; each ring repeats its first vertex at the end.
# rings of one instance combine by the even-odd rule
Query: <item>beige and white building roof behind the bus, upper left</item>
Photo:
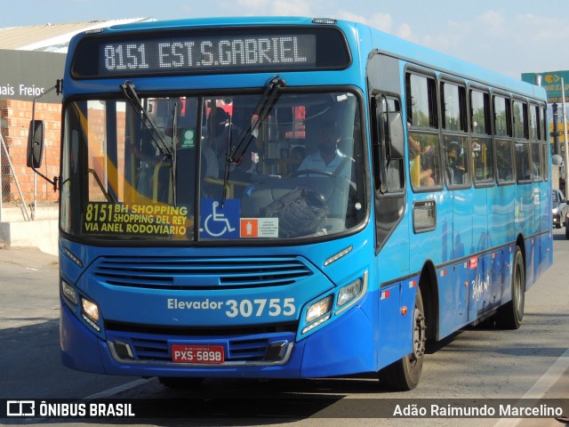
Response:
POLYGON ((69 40, 88 29, 104 28, 131 22, 144 22, 153 18, 124 20, 91 20, 66 24, 45 24, 31 27, 0 28, 0 49, 14 51, 61 52, 68 50, 69 40))

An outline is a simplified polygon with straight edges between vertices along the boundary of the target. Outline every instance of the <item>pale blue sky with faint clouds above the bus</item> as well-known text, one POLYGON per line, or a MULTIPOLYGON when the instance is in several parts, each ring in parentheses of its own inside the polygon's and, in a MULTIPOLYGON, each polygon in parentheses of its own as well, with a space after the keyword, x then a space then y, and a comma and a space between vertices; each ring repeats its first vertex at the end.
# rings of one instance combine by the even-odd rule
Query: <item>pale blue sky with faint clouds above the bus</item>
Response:
POLYGON ((569 69, 569 0, 0 0, 0 28, 268 15, 364 22, 510 77, 569 69))

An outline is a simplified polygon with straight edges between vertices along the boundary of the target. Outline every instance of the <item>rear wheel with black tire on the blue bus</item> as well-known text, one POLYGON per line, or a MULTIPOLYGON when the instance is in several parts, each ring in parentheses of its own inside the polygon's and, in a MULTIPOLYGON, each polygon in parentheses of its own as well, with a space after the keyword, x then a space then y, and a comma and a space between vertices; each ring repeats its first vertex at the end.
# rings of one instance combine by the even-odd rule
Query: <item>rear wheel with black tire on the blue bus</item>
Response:
POLYGON ((524 256, 519 246, 516 246, 512 262, 511 280, 512 299, 496 313, 496 326, 501 329, 518 329, 524 320, 525 304, 525 268, 524 256))

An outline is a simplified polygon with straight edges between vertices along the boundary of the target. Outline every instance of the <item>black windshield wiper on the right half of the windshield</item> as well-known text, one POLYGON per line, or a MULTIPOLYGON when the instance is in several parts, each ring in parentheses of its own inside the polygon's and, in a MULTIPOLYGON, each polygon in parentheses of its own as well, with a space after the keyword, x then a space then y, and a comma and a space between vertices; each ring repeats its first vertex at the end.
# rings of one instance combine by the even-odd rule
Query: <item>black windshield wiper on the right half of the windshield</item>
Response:
POLYGON ((252 112, 251 117, 255 117, 254 120, 249 120, 248 128, 243 129, 239 134, 239 138, 237 139, 237 143, 235 147, 231 147, 231 123, 229 123, 229 132, 228 132, 228 154, 227 154, 227 161, 225 162, 225 173, 223 178, 223 196, 221 198, 221 205, 224 205, 225 198, 227 197, 227 188, 228 188, 228 181, 229 181, 229 165, 239 165, 241 163, 241 159, 243 158, 244 152, 251 144, 251 141, 255 137, 256 131, 259 129, 260 125, 265 121, 268 117, 271 110, 275 107, 276 101, 280 97, 279 89, 286 85, 284 78, 274 76, 268 79, 268 82, 265 84, 265 92, 261 95, 257 106, 252 112))

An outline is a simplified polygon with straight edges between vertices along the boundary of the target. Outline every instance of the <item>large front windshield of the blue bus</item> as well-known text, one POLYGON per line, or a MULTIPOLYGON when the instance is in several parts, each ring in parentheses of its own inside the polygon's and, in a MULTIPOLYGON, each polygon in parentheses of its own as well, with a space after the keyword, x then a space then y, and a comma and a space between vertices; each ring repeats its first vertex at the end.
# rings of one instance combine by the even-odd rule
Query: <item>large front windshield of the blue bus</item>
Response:
POLYGON ((328 238, 365 220, 356 92, 287 88, 270 102, 266 93, 125 95, 66 106, 60 222, 69 235, 328 238))

